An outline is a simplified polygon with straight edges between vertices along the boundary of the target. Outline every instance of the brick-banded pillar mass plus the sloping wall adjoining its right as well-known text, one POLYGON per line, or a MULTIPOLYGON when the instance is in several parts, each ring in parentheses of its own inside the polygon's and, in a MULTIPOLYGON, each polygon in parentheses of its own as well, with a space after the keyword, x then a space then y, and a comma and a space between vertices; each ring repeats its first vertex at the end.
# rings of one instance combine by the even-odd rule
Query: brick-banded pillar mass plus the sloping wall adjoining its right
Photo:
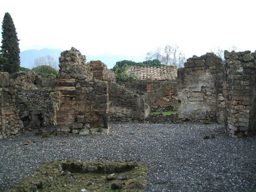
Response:
POLYGON ((59 61, 58 134, 108 134, 109 119, 144 122, 145 97, 116 84, 114 73, 104 63, 87 65, 75 48, 62 52, 59 61))

